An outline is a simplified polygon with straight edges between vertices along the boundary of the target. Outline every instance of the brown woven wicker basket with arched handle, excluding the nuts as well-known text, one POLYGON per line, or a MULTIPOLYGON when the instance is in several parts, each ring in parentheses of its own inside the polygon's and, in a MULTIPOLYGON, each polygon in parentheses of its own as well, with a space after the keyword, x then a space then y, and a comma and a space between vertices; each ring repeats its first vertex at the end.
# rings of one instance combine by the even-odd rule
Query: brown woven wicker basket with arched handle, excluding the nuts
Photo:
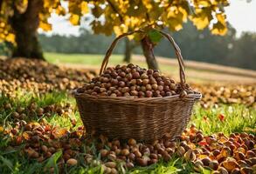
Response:
MULTIPOLYGON (((107 68, 114 46, 122 37, 142 32, 125 33, 114 39, 107 50, 100 74, 107 68)), ((175 48, 180 68, 180 84, 185 84, 183 57, 170 35, 159 31, 175 48)), ((193 104, 201 98, 200 93, 170 97, 98 97, 74 91, 80 117, 87 133, 97 132, 110 138, 135 138, 150 142, 165 135, 176 137, 182 133, 190 120, 193 104)))

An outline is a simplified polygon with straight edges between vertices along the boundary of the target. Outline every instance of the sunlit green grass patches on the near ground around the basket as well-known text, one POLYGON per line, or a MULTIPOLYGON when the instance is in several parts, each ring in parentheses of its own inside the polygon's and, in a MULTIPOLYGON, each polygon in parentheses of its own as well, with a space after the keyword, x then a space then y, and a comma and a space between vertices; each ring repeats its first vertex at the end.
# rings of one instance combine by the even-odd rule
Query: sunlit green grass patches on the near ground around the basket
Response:
MULTIPOLYGON (((61 127, 71 128, 70 118, 77 119, 77 126, 82 125, 79 112, 75 109, 74 98, 66 92, 52 92, 44 95, 35 95, 33 93, 24 93, 17 91, 17 97, 10 99, 9 97, 0 97, 0 126, 3 128, 14 125, 14 119, 11 114, 16 110, 17 106, 27 106, 31 102, 36 102, 38 106, 46 106, 49 104, 66 104, 70 103, 74 106, 74 111, 69 117, 61 117, 52 113, 51 117, 38 117, 35 114, 33 117, 26 117, 25 121, 40 121, 45 119, 46 122, 61 127), (10 110, 3 110, 3 105, 10 103, 13 107, 10 110)), ((203 109, 199 104, 196 105, 194 114, 190 124, 196 124, 197 128, 201 129, 204 134, 212 134, 215 132, 224 132, 230 134, 232 132, 241 132, 253 130, 256 127, 256 110, 246 108, 245 105, 220 105, 218 108, 203 109), (225 116, 222 122, 218 115, 225 116)), ((75 129, 75 128, 74 128, 75 129)), ((255 132, 251 132, 254 133, 255 132)), ((61 156, 58 152, 47 159, 44 163, 38 163, 35 160, 28 159, 21 153, 23 145, 15 148, 10 148, 10 137, 1 137, 0 133, 0 173, 41 173, 45 167, 55 167, 58 170, 56 160, 61 156)), ((83 161, 83 160, 81 160, 83 161)), ((100 165, 88 166, 80 164, 76 167, 66 166, 64 173, 102 173, 100 165)), ((150 165, 149 167, 138 167, 129 173, 190 173, 194 172, 190 163, 183 163, 182 158, 173 157, 169 163, 159 162, 158 164, 150 165)))

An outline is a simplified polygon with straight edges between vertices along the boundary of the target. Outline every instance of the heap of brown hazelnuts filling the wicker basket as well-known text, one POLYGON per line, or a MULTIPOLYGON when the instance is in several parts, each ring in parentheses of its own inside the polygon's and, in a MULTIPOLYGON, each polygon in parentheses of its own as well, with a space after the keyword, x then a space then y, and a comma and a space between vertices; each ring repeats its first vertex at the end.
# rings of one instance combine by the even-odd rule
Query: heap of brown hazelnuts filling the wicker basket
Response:
POLYGON ((182 89, 181 84, 162 76, 159 70, 134 64, 108 67, 77 92, 105 97, 169 97, 194 93, 188 84, 182 89))

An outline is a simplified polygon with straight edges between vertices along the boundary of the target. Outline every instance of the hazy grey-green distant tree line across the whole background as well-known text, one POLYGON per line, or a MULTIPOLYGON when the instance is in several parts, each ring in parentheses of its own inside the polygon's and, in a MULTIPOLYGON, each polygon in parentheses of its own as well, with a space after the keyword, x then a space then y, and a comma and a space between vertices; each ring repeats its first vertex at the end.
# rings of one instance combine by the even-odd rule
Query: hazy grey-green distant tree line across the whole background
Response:
MULTIPOLYGON (((180 46, 183 57, 188 60, 224 64, 256 70, 256 33, 244 32, 236 37, 236 30, 229 26, 225 37, 213 36, 210 30, 198 31, 192 23, 185 23, 183 30, 171 33, 180 46)), ((93 35, 89 30, 80 29, 80 36, 39 35, 44 51, 61 53, 105 54, 114 36, 93 35)), ((130 54, 142 54, 141 47, 134 41, 123 40, 114 50, 123 54, 129 62, 130 54)), ((10 43, 0 44, 0 54, 10 55, 10 43)), ((175 57, 167 40, 156 45, 155 55, 175 57)))

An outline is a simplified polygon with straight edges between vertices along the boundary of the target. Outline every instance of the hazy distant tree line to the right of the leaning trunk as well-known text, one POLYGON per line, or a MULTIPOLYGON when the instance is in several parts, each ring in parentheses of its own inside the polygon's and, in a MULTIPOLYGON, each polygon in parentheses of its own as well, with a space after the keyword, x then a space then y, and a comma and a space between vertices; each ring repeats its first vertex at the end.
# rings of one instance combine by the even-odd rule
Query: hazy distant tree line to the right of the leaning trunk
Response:
MULTIPOLYGON (((173 33, 176 43, 182 50, 183 57, 189 60, 224 64, 256 70, 256 33, 243 32, 236 37, 236 30, 228 26, 224 37, 211 35, 211 31, 198 31, 191 23, 184 29, 173 33)), ((174 57, 168 50, 170 44, 164 40, 156 46, 156 55, 174 57)))

